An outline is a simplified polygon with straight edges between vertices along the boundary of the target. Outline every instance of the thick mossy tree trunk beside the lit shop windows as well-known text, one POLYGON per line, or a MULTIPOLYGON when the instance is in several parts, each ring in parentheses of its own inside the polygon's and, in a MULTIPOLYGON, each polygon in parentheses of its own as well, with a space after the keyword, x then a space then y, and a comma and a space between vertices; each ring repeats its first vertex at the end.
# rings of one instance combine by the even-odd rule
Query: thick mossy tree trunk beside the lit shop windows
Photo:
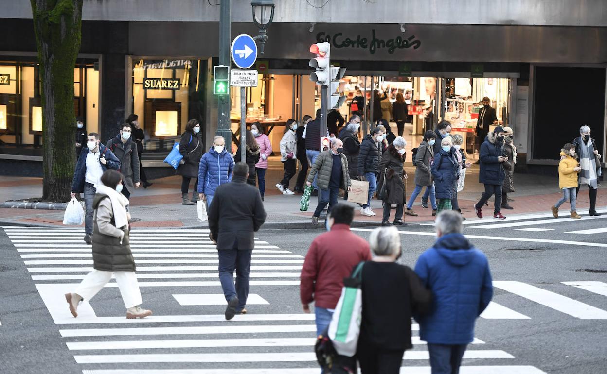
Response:
POLYGON ((74 66, 83 0, 30 0, 42 102, 42 200, 69 201, 75 164, 74 66))

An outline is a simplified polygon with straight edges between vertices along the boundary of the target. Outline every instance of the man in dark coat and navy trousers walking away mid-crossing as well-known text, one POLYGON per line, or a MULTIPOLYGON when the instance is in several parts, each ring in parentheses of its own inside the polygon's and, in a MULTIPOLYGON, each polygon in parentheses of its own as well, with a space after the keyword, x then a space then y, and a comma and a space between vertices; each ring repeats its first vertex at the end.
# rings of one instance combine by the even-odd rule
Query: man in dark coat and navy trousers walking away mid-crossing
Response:
MULTIPOLYGON (((233 162, 232 159, 231 161, 233 162)), ((248 172, 249 167, 245 162, 235 164, 234 178, 231 182, 217 186, 209 207, 210 238, 217 244, 219 281, 228 302, 225 319, 232 319, 236 314, 247 312, 245 306, 249 295, 254 235, 266 218, 259 191, 246 184, 248 172)))

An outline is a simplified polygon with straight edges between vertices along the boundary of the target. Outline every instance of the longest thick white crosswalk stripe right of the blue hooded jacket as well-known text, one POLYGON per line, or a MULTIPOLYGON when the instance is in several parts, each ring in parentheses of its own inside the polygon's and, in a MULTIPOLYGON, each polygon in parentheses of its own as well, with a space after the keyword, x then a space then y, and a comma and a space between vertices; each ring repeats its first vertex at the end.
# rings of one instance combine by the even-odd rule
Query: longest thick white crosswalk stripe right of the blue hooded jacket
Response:
POLYGON ((493 286, 580 319, 607 319, 605 310, 558 293, 517 281, 493 281, 493 286))

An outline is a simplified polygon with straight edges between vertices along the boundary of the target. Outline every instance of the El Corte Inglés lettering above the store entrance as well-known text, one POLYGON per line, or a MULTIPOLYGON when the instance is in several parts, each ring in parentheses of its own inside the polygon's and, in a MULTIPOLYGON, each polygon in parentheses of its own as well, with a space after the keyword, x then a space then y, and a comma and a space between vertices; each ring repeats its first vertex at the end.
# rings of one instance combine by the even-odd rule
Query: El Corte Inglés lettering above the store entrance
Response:
POLYGON ((396 49, 402 48, 413 48, 417 49, 421 46, 421 41, 415 40, 415 35, 409 36, 409 38, 402 38, 396 36, 392 39, 378 39, 375 36, 375 28, 371 30, 371 38, 363 38, 361 35, 356 35, 356 38, 344 38, 344 33, 336 33, 333 36, 327 35, 325 32, 319 32, 316 34, 317 42, 329 42, 335 48, 364 48, 369 50, 371 55, 375 55, 375 52, 379 48, 388 48, 388 53, 392 55, 396 49))

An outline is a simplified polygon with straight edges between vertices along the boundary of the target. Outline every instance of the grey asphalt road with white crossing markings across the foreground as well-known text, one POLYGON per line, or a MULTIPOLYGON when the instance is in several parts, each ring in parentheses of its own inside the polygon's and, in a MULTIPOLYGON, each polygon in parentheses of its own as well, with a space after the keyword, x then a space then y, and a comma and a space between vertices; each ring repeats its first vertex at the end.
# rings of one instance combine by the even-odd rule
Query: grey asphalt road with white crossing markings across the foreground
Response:
MULTIPOLYGON (((468 350, 472 351, 473 357, 480 358, 464 359, 464 365, 470 368, 486 368, 478 369, 480 371, 474 373, 522 373, 529 367, 539 370, 537 373, 605 373, 606 227, 607 215, 592 219, 585 216, 580 221, 557 221, 547 215, 507 221, 466 221, 464 233, 489 258, 496 285, 493 301, 503 309, 495 309, 492 315, 486 316, 487 318, 478 319, 475 336, 484 344, 470 344, 468 350), (539 231, 540 229, 543 230, 539 231), (571 233, 579 231, 583 232, 571 233), (574 282, 578 287, 562 282, 574 282), (512 316, 518 318, 511 319, 512 316), (487 353, 487 358, 481 358, 484 357, 481 351, 492 353, 487 353), (494 354, 496 352, 497 354, 494 354), (498 371, 500 367, 502 371, 498 371)), ((8 230, 11 232, 10 239, 5 230, 0 229, 2 373, 82 373, 83 370, 87 370, 87 373, 100 373, 95 371, 99 369, 129 370, 123 373, 144 373, 143 369, 206 369, 198 373, 228 373, 236 372, 236 368, 276 369, 274 372, 249 371, 250 373, 317 372, 312 369, 314 361, 305 356, 311 352, 311 347, 300 342, 300 339, 305 342, 308 342, 306 339, 313 341, 314 332, 310 331, 313 320, 302 317, 299 287, 292 284, 297 281, 296 273, 299 273, 299 270, 282 269, 278 266, 300 266, 296 262, 303 258, 296 255, 305 256, 310 242, 322 233, 322 230, 262 230, 258 233, 257 238, 263 241, 258 244, 267 245, 267 248, 262 249, 267 252, 259 253, 270 255, 259 257, 259 263, 253 265, 263 269, 252 270, 251 273, 269 274, 251 278, 251 281, 269 283, 251 286, 250 292, 258 294, 260 302, 267 304, 249 305, 249 315, 246 318, 250 319, 239 319, 237 316, 231 322, 222 321, 220 318, 215 321, 213 316, 221 317, 225 308, 220 303, 186 305, 188 302, 184 299, 189 300, 189 304, 201 304, 194 296, 190 296, 192 294, 210 295, 221 292, 219 286, 212 284, 183 283, 216 281, 217 278, 212 275, 214 270, 175 269, 170 273, 194 274, 192 277, 208 273, 209 276, 164 278, 165 275, 161 275, 162 270, 148 269, 138 271, 138 275, 158 276, 140 278, 144 307, 153 309, 154 316, 147 322, 129 323, 124 322, 124 306, 116 287, 106 287, 90 302, 96 317, 92 315, 92 318, 89 318, 84 307, 81 307, 82 319, 73 319, 67 312, 67 304, 62 299, 61 292, 66 287, 73 289, 75 284, 80 282, 77 277, 86 274, 84 270, 72 271, 72 268, 80 266, 84 269, 90 266, 73 262, 86 262, 88 259, 86 247, 78 242, 79 234, 64 236, 56 230, 55 236, 52 236, 48 231, 42 230, 34 235, 27 231, 8 230), (75 239, 73 243, 76 244, 69 244, 72 243, 69 238, 75 239), (47 252, 52 249, 56 250, 47 252), (275 250, 285 252, 273 252, 275 250), (61 257, 58 253, 75 257, 61 257), (271 256, 277 256, 277 253, 290 257, 270 259, 271 256), (29 258, 21 258, 20 255, 29 255, 29 258), (268 263, 264 262, 266 259, 268 263), (26 265, 24 261, 35 262, 28 262, 26 265), (41 270, 49 271, 28 271, 35 267, 46 267, 41 270), (61 267, 71 270, 56 269, 61 267), (51 268, 55 270, 50 271, 51 268), (32 276, 38 278, 33 280, 32 276), (68 280, 69 277, 71 278, 68 280), (169 281, 179 283, 158 283, 169 281), (148 284, 142 285, 143 282, 148 284), (150 282, 154 284, 149 284, 150 282), (36 288, 36 284, 40 290, 36 288), (63 284, 68 286, 62 286, 63 284), (46 298, 47 304, 42 301, 42 297, 46 298), (287 321, 274 318, 284 314, 293 314, 296 317, 287 321), (169 318, 173 318, 172 320, 158 319, 162 316, 174 317, 169 318), (259 327, 257 330, 245 330, 256 326, 259 327), (155 327, 166 327, 168 330, 146 330, 155 327), (281 329, 290 331, 280 331, 281 329), (116 335, 118 333, 121 335, 116 335), (248 339, 262 339, 263 342, 248 339), (268 341, 271 341, 271 344, 268 341), (89 346, 77 343, 86 343, 89 346), (291 355, 293 352, 296 354, 291 355), (301 371, 288 371, 295 368, 301 368, 301 371)), ((368 238, 370 230, 359 229, 356 233, 368 238)), ((434 227, 410 225, 399 230, 403 246, 403 256, 399 261, 413 267, 419 254, 433 244, 434 227)), ((191 235, 190 241, 192 238, 204 236, 180 230, 172 232, 183 234, 177 235, 180 239, 191 235)), ((163 257, 178 256, 187 250, 183 249, 183 245, 167 249, 168 245, 165 244, 178 239, 168 238, 167 241, 162 241, 160 236, 165 235, 163 233, 156 233, 155 236, 146 236, 149 231, 144 230, 134 230, 134 233, 141 233, 138 238, 141 241, 138 249, 141 256, 146 259, 151 254, 157 256, 147 260, 155 262, 138 261, 138 267, 216 266, 210 263, 187 262, 192 261, 192 257, 163 257), (151 253, 152 250, 156 252, 151 253), (147 255, 143 255, 143 252, 147 255)), ((189 255, 199 253, 194 250, 197 249, 191 249, 189 255)), ((171 276, 174 275, 168 277, 171 276)), ((416 332, 413 335, 416 335, 416 332)), ((412 353, 422 353, 421 351, 425 351, 424 345, 416 344, 412 353)), ((415 367, 412 369, 428 365, 427 359, 403 361, 403 366, 415 367)), ((237 372, 249 373, 245 370, 237 372)), ((424 371, 419 371, 421 372, 424 371)), ((465 374, 466 371, 463 370, 462 373, 465 374)))

